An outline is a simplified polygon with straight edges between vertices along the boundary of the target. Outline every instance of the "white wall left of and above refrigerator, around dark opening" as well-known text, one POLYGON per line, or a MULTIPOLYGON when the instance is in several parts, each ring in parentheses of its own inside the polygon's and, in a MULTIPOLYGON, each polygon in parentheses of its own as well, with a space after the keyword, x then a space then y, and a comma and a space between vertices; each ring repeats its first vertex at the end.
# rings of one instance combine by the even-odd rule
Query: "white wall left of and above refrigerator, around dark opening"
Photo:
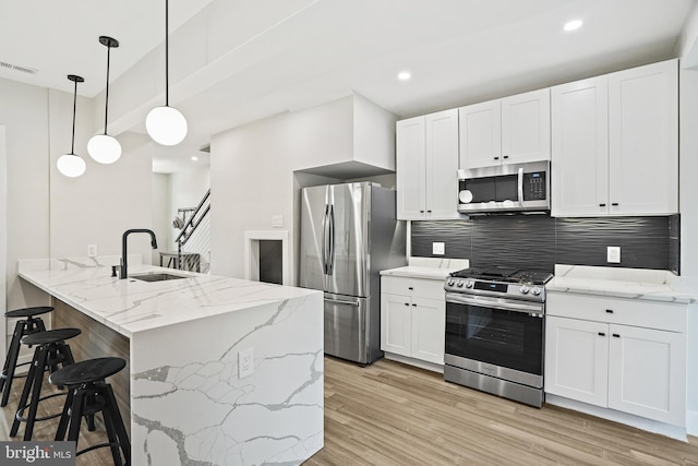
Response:
MULTIPOLYGON (((361 163, 376 160, 373 165, 378 167, 390 160, 395 164, 394 151, 386 148, 394 139, 394 123, 392 113, 366 104, 360 96, 349 96, 215 135, 210 143, 212 273, 244 277, 244 231, 270 230, 272 216, 281 215, 280 229, 289 231, 289 243, 294 244, 291 256, 285 259, 289 261, 290 283, 297 283, 294 213, 300 205, 300 186, 293 172, 359 162, 357 148, 362 154, 373 154, 361 163), (374 113, 372 121, 381 120, 375 115, 386 113, 383 120, 393 121, 389 126, 382 123, 387 134, 364 131, 364 139, 359 132, 359 141, 354 141, 357 127, 361 124, 360 112, 374 113), (354 122, 357 115, 359 122, 354 122), (373 144, 363 141, 373 141, 373 144), (383 154, 384 151, 389 152, 383 154)), ((310 178, 313 177, 305 177, 310 178)))

